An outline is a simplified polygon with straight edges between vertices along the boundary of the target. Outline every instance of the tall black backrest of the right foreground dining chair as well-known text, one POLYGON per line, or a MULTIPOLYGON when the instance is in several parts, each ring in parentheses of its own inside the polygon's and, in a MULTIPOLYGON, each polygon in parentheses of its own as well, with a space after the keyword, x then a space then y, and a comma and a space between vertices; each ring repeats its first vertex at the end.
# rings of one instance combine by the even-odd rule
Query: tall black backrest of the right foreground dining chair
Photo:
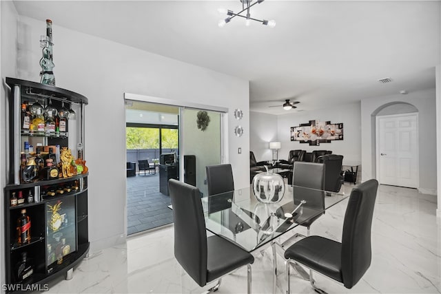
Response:
POLYGON ((352 288, 371 264, 371 226, 377 180, 367 180, 351 191, 343 222, 342 277, 352 288))

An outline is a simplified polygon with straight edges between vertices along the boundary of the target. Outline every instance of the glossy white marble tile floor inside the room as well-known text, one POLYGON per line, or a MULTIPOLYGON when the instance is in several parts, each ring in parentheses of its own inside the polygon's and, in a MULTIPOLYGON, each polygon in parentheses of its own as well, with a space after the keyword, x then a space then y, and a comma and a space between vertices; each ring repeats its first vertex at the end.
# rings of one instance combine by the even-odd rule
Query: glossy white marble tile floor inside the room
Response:
MULTIPOLYGON (((345 183, 345 193, 353 185, 345 183)), ((329 209, 311 233, 341 240, 347 200, 329 209)), ((380 185, 372 225, 372 262, 352 289, 316 274, 328 293, 440 293, 441 221, 436 197, 416 189, 380 185)), ((297 230, 306 233, 305 228, 297 230)), ((173 255, 172 225, 136 234, 124 244, 90 254, 72 280, 50 284, 49 293, 201 293, 173 255)), ((252 293, 272 293, 271 250, 255 253, 252 293)), ((277 293, 286 293, 285 266, 278 258, 277 293)), ((291 271, 292 273, 293 271, 291 271)), ((212 286, 212 285, 210 285, 212 286)), ((291 275, 293 293, 315 293, 309 282, 291 275)), ((246 266, 223 278, 218 293, 246 293, 246 266)))

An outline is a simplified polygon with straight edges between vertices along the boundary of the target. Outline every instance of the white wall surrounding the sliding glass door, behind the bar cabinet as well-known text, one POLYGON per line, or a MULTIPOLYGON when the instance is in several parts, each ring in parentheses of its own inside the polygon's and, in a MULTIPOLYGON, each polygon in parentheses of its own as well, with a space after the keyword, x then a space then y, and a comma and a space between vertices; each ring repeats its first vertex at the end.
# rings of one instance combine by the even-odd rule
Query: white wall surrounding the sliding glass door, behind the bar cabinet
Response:
MULTIPOLYGON (((3 21, 2 29, 3 25, 13 24, 3 21)), ((2 38, 2 43, 19 44, 17 78, 39 81, 39 36, 44 32, 44 21, 19 17, 18 38, 2 38)), ((85 160, 90 171, 92 251, 125 238, 125 92, 227 107, 230 113, 242 109, 244 136, 234 136, 236 122, 234 116, 228 116, 227 154, 236 186, 249 185, 248 81, 68 30, 57 23, 53 25, 53 34, 57 86, 89 98, 85 160), (237 154, 238 147, 242 147, 243 154, 237 154)))

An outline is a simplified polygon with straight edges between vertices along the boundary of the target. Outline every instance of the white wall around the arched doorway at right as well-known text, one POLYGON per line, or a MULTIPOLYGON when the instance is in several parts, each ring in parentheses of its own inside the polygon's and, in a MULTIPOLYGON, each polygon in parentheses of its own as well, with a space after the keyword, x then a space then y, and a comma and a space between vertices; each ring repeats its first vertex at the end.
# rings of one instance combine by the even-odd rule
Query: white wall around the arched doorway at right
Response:
POLYGON ((375 115, 383 105, 395 102, 409 103, 418 109, 419 189, 424 193, 434 194, 437 182, 435 89, 410 92, 407 95, 366 98, 361 101, 362 180, 376 177, 375 116, 373 114, 375 115))

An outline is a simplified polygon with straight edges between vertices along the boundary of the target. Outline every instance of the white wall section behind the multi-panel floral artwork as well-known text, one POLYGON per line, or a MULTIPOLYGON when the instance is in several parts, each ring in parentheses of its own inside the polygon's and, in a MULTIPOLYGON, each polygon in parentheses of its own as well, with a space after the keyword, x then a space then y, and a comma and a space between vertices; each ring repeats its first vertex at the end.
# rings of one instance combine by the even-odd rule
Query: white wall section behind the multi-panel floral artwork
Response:
POLYGON ((280 159, 288 159, 289 150, 302 149, 307 152, 314 150, 331 150, 333 154, 345 157, 345 160, 360 161, 361 158, 361 127, 360 103, 336 105, 327 109, 318 109, 310 112, 291 112, 278 116, 278 140, 282 143, 279 150, 280 159), (320 146, 309 146, 308 143, 292 142, 290 128, 297 127, 309 120, 331 121, 343 123, 343 140, 334 140, 331 143, 320 143, 320 146))

